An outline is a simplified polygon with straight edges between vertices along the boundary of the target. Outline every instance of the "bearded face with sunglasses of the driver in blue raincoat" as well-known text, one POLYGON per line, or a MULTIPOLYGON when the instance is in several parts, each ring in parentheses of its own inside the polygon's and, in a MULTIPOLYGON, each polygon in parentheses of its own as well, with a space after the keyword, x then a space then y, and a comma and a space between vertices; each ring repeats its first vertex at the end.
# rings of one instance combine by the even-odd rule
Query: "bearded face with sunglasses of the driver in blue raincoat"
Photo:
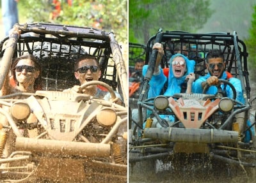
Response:
POLYGON ((220 57, 208 59, 208 63, 206 64, 207 70, 211 74, 211 76, 216 76, 218 78, 221 77, 223 71, 225 70, 225 63, 223 59, 220 57))

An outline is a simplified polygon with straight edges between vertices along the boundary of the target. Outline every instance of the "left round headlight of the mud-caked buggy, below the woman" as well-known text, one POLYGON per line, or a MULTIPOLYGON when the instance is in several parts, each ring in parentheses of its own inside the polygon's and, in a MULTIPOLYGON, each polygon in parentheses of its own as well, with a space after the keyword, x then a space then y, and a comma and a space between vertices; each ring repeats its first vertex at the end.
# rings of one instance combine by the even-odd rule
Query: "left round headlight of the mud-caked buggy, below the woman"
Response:
POLYGON ((17 120, 26 120, 30 115, 30 108, 25 101, 16 101, 10 108, 12 117, 17 120))

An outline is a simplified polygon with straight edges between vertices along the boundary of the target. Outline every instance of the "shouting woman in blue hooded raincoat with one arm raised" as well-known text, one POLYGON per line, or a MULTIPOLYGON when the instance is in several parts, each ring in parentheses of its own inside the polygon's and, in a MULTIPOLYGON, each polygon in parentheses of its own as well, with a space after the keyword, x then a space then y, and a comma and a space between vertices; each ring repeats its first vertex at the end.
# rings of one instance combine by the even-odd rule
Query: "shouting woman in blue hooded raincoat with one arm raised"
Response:
MULTIPOLYGON (((153 49, 158 50, 156 67, 154 74, 149 82, 150 89, 148 98, 159 96, 172 96, 179 92, 192 92, 193 82, 195 80, 194 66, 195 61, 189 60, 182 54, 175 54, 170 58, 170 68, 168 77, 163 73, 163 69, 159 67, 163 57, 163 45, 155 43, 153 49)), ((147 66, 143 67, 143 75, 147 71, 147 66)))

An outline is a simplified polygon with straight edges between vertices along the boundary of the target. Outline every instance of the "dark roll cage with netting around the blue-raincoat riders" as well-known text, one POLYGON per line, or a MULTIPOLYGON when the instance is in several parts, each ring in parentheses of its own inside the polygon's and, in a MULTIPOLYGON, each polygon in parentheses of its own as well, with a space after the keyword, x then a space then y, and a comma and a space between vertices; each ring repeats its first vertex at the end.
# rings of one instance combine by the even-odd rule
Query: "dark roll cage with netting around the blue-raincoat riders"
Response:
MULTIPOLYGON (((152 50, 154 43, 163 44, 164 56, 161 61, 162 68, 169 68, 168 61, 175 52, 180 51, 187 54, 189 59, 196 62, 196 78, 207 74, 205 56, 209 49, 218 48, 223 52, 226 61, 226 71, 233 77, 239 78, 246 96, 246 103, 250 100, 250 82, 247 65, 248 52, 246 45, 239 40, 236 31, 234 33, 188 33, 184 31, 166 31, 159 29, 158 33, 152 36, 147 43, 145 64, 151 68, 145 75, 147 82, 152 77, 152 68, 155 66, 156 50, 152 50), (178 45, 178 47, 177 47, 178 45), (186 48, 183 46, 186 45, 186 48)), ((146 82, 146 83, 147 83, 146 82)), ((143 84, 145 87, 145 84, 143 84)), ((140 98, 141 100, 141 98, 140 98)))

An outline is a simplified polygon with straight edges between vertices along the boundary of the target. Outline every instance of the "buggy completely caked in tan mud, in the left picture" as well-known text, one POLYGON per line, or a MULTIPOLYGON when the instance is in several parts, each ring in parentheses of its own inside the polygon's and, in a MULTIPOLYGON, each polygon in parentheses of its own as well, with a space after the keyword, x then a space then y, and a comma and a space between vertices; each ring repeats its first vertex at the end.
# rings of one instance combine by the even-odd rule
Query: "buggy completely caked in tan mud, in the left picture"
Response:
POLYGON ((40 61, 43 82, 35 94, 0 98, 0 113, 8 121, 0 125, 0 182, 127 181, 127 69, 115 34, 46 23, 15 27, 20 36, 13 31, 0 43, 1 87, 11 59, 28 53, 40 61), (81 87, 98 85, 113 101, 116 91, 122 105, 63 92, 79 85, 74 62, 86 54, 99 59, 102 75, 81 87))

